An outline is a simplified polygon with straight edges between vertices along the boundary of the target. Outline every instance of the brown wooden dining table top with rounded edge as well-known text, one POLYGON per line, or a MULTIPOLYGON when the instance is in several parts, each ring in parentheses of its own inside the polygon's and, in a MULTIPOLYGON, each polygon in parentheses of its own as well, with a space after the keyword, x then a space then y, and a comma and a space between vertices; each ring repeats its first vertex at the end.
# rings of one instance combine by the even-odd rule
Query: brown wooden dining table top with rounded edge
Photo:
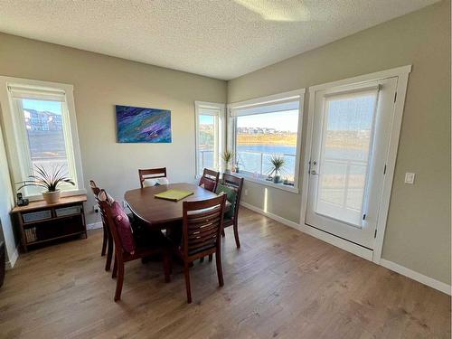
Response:
POLYGON ((207 191, 196 184, 181 183, 162 184, 130 190, 126 192, 124 199, 135 217, 144 221, 153 229, 163 230, 171 223, 180 221, 182 224, 183 202, 206 200, 216 196, 217 194, 207 191), (158 199, 154 196, 156 193, 162 193, 172 189, 190 191, 193 194, 178 202, 158 199))

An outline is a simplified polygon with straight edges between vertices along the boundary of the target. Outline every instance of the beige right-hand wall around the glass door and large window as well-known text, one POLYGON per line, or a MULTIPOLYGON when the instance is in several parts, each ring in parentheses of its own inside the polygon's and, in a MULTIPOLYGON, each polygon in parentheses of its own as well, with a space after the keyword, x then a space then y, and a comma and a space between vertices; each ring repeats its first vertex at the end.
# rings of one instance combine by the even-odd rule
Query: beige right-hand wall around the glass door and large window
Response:
MULTIPOLYGON (((382 258, 448 285, 450 43, 445 0, 228 82, 231 103, 411 64, 382 258), (414 185, 404 184, 405 172, 417 174, 414 185)), ((300 194, 246 188, 245 202, 263 209, 267 191, 268 212, 299 222, 300 194)))

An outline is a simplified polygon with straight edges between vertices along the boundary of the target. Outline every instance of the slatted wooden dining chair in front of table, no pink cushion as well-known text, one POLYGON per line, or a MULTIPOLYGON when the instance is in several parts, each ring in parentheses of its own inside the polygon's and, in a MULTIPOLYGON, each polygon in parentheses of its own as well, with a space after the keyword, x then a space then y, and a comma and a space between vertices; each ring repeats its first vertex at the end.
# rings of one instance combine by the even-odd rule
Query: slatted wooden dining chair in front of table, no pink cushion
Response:
POLYGON ((220 286, 224 285, 221 268, 221 231, 225 201, 226 197, 221 195, 208 200, 183 203, 183 240, 175 252, 184 261, 188 304, 192 302, 189 268, 194 260, 209 256, 209 261, 212 261, 215 253, 218 283, 220 286))

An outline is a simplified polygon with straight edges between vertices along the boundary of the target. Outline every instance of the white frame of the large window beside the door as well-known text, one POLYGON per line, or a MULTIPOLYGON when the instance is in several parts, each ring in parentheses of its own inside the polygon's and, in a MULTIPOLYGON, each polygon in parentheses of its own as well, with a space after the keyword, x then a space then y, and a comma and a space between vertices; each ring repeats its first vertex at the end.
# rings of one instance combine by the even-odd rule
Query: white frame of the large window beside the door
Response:
POLYGON ((298 99, 298 128, 297 128, 297 153, 295 159, 295 177, 294 185, 290 186, 287 184, 275 184, 264 179, 255 178, 247 173, 238 173, 235 175, 241 176, 245 181, 250 181, 255 184, 262 184, 265 186, 270 186, 284 190, 291 193, 299 193, 299 174, 300 174, 300 157, 301 157, 301 137, 303 129, 303 115, 305 107, 305 93, 306 89, 295 89, 283 93, 273 94, 266 97, 259 97, 255 99, 234 102, 228 105, 228 146, 231 149, 236 150, 236 140, 237 140, 237 117, 233 115, 233 111, 239 108, 253 108, 259 106, 265 106, 268 104, 278 103, 278 101, 285 102, 287 99, 298 99))

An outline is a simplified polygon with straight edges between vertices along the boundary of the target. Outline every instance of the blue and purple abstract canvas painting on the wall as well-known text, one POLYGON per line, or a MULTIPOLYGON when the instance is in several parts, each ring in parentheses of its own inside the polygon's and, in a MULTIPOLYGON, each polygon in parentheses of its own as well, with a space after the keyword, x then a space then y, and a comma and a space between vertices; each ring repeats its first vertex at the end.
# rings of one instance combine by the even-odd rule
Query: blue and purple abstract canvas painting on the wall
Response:
POLYGON ((171 143, 171 111, 116 106, 119 143, 171 143))

